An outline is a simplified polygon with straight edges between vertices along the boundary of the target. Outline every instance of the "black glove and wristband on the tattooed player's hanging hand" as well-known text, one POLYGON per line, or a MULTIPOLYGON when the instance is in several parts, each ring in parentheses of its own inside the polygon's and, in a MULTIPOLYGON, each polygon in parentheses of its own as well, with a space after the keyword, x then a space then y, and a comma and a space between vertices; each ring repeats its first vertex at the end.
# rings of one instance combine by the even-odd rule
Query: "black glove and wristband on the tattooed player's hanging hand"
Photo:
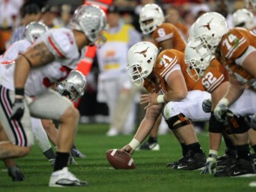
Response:
POLYGON ((24 114, 24 88, 15 89, 15 101, 12 105, 11 119, 20 120, 24 114))

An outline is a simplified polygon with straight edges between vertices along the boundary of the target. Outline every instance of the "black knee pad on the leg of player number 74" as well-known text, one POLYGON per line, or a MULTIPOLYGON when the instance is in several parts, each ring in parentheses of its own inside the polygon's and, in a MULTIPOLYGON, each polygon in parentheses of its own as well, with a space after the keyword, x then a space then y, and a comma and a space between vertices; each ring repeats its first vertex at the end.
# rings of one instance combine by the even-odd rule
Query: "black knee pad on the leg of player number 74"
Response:
POLYGON ((232 134, 246 133, 251 129, 249 123, 243 116, 238 117, 236 115, 229 119, 229 126, 232 134))

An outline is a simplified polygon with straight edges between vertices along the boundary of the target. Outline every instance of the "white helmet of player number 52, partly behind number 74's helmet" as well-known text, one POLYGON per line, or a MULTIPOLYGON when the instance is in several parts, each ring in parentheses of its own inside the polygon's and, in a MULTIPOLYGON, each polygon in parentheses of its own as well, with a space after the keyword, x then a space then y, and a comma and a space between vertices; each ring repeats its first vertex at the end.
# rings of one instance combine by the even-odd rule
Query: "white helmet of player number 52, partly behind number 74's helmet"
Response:
POLYGON ((189 66, 187 72, 195 81, 204 76, 205 69, 214 58, 199 40, 191 40, 185 48, 185 63, 189 66))

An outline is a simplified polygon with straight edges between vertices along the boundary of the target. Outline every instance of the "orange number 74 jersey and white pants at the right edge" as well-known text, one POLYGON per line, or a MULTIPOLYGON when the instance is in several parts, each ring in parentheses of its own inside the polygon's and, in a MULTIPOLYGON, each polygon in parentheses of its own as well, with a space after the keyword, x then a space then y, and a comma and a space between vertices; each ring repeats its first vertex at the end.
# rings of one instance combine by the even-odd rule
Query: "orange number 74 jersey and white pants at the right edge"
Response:
POLYGON ((241 66, 247 55, 256 51, 255 40, 256 34, 252 30, 236 27, 225 34, 219 43, 221 62, 230 76, 247 87, 240 98, 229 107, 235 115, 246 116, 256 112, 256 79, 241 66), (239 107, 241 110, 237 111, 236 108, 239 107))

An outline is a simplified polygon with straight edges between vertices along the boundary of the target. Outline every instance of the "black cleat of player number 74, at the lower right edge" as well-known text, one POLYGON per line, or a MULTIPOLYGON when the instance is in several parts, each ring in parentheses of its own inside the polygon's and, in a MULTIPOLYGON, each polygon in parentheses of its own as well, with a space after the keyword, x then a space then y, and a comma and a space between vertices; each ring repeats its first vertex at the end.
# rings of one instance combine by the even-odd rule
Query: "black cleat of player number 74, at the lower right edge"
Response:
POLYGON ((256 176, 254 165, 251 161, 240 158, 235 164, 227 165, 217 171, 215 177, 253 177, 256 176))

